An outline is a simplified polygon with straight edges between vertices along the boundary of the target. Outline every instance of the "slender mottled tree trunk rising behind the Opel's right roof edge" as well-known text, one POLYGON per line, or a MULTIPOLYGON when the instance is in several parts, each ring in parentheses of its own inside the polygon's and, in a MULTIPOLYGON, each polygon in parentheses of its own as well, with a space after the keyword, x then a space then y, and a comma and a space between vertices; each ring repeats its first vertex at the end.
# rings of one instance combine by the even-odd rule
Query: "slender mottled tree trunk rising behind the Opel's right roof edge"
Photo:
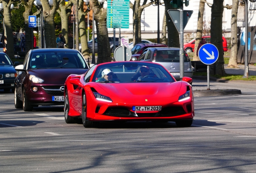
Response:
MULTIPOLYGON (((85 16, 87 14, 84 12, 84 1, 79 1, 79 9, 78 9, 78 18, 79 20, 79 33, 80 33, 80 39, 81 39, 81 53, 85 57, 85 59, 91 58, 89 54, 89 48, 88 48, 88 42, 87 42, 87 30, 86 30, 86 24, 85 24, 85 16)), ((89 20, 89 19, 88 19, 89 20)))

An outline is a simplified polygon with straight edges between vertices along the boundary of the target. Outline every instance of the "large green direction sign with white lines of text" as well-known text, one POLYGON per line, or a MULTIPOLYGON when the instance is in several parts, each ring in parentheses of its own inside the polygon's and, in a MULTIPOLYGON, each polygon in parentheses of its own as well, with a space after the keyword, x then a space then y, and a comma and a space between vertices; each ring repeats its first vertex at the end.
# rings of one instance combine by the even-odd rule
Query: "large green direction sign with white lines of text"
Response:
POLYGON ((129 28, 130 0, 107 1, 107 28, 129 28))

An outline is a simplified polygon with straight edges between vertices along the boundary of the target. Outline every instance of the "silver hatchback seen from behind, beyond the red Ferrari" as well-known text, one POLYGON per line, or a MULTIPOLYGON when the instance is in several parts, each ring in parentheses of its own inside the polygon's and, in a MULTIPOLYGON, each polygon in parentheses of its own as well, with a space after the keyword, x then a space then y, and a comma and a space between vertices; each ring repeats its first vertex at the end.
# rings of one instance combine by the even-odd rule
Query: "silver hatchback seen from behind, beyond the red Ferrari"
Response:
MULTIPOLYGON (((176 80, 180 80, 180 48, 147 48, 142 52, 138 60, 159 63, 163 65, 176 80)), ((186 51, 184 51, 184 76, 190 78, 193 76, 191 61, 186 51)))

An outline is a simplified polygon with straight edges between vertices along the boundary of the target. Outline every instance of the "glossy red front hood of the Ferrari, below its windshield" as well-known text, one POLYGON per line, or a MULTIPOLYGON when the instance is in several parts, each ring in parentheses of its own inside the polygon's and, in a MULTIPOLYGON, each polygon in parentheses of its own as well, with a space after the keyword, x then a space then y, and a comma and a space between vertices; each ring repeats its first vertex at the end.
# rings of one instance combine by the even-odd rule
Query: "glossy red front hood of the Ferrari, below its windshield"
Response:
MULTIPOLYGON (((173 97, 178 95, 181 82, 163 83, 97 83, 110 96, 130 98, 143 96, 173 97)), ((103 94, 103 93, 102 93, 103 94)))

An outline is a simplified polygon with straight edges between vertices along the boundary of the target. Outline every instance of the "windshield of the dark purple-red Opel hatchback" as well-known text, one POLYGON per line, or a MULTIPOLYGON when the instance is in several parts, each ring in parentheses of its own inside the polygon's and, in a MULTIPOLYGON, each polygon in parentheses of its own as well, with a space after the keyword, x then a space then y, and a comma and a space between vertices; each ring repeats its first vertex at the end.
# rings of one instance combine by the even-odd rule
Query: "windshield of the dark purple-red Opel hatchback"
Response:
POLYGON ((37 52, 29 59, 29 69, 35 68, 87 68, 81 54, 77 52, 37 52))

